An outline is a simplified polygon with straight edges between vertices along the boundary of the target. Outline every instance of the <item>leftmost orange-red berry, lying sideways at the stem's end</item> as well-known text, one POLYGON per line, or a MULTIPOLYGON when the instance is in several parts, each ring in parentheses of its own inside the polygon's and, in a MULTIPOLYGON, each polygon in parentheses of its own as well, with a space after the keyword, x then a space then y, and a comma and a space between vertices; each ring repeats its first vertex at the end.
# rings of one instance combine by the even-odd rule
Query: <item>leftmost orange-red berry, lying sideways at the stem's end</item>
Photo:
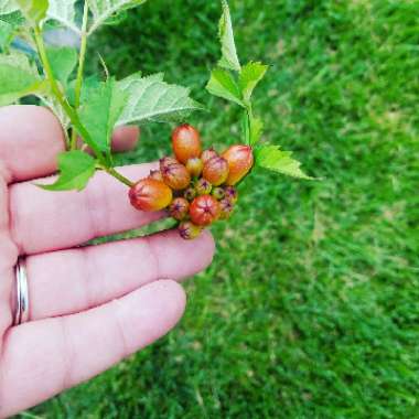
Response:
POLYGON ((163 182, 143 179, 129 191, 131 205, 140 211, 160 211, 172 201, 172 190, 163 182))

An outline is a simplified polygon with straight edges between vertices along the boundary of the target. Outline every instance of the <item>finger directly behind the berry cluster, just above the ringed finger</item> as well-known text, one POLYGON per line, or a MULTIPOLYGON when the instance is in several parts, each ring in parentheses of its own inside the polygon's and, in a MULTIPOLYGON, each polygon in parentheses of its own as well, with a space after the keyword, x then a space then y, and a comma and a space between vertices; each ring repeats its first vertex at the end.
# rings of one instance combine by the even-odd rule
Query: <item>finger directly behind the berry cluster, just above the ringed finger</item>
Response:
MULTIPOLYGON (((144 178, 153 164, 120 171, 132 180, 144 178)), ((10 187, 11 233, 25 255, 84 244, 95 237, 139 228, 164 216, 143 213, 128 200, 128 187, 98 172, 83 192, 49 192, 31 182, 10 187)))

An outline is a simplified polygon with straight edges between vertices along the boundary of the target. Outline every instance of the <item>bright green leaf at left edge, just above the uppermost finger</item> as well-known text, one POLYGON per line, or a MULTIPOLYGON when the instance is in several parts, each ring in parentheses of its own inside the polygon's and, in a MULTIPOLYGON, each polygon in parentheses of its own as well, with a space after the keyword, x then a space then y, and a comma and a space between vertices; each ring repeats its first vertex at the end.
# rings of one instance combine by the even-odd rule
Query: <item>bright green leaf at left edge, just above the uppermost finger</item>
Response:
POLYGON ((23 54, 0 55, 0 106, 39 92, 43 80, 23 54))

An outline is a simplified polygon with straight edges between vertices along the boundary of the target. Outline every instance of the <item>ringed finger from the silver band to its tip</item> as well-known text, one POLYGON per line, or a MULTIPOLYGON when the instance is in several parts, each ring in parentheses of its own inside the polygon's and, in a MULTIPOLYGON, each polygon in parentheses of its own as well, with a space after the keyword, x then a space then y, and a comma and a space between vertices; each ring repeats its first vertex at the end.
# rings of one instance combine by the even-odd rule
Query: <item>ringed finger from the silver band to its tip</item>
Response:
POLYGON ((210 233, 183 240, 171 230, 29 257, 30 319, 77 313, 161 278, 181 280, 206 268, 213 256, 210 233))

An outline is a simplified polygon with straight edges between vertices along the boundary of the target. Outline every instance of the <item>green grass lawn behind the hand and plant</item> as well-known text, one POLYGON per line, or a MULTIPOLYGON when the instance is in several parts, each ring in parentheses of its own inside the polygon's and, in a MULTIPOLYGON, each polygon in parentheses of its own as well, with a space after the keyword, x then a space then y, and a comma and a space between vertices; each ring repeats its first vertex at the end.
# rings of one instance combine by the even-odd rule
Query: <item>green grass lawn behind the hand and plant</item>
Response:
MULTIPOLYGON (((419 417, 419 3, 230 6, 243 61, 271 65, 257 93, 266 139, 323 180, 257 171, 213 229, 217 255, 186 284, 180 326, 34 415, 419 417)), ((163 71, 191 86, 210 107, 191 121, 225 147, 237 109, 203 89, 218 17, 217 1, 154 0, 95 47, 120 77, 163 71)), ((168 152, 170 129, 144 127, 125 161, 168 152)))

